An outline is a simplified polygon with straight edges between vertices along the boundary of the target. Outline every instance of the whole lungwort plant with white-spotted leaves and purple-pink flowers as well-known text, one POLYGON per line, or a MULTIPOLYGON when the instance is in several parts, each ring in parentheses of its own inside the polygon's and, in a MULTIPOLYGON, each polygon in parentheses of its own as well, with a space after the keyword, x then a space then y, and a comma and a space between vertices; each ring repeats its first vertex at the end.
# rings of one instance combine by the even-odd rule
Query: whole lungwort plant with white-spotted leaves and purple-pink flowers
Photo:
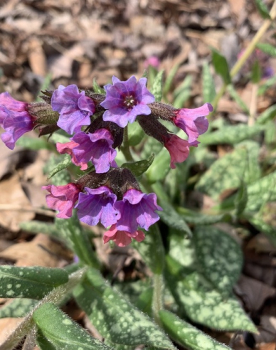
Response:
MULTIPOLYGON (((260 28, 264 33, 275 18, 275 5, 269 14, 256 3, 265 18, 265 28, 260 28)), ((177 344, 222 350, 230 348, 201 326, 257 331, 233 293, 242 250, 216 223, 239 227, 247 221, 275 242, 275 230, 263 214, 276 199, 271 186, 276 173, 273 166, 267 170, 272 159, 263 167, 258 154, 260 132, 272 147, 276 108, 256 115, 232 83, 259 39, 258 32, 231 71, 223 55, 213 50, 213 68, 223 86, 216 93, 212 70, 203 65, 203 105, 193 109, 183 108, 191 94, 189 75, 173 92, 171 104, 162 102, 169 100, 177 68, 164 88, 163 73, 152 70, 149 81, 147 75, 126 81, 113 77, 104 88, 94 81, 90 90, 60 85, 43 91, 42 102, 19 102, 8 92, 0 95, 6 146, 14 149, 18 143, 55 151, 46 166, 51 184, 43 189, 56 218, 51 224, 22 223, 22 228, 53 235, 75 255, 75 263, 65 268, 0 267, 0 297, 13 299, 0 309, 0 317, 23 317, 1 350, 14 349, 22 339, 24 349, 37 345, 41 350, 130 350, 141 345, 172 350, 177 344), (213 118, 225 91, 250 114, 248 124, 213 118), (26 135, 32 129, 38 130, 40 142, 26 135), (233 150, 224 157, 216 159, 208 151, 209 145, 225 143, 233 150), (201 172, 195 174, 194 169, 201 172), (211 213, 186 206, 193 189, 213 199, 211 213), (222 200, 229 189, 233 194, 222 200), (106 273, 91 239, 95 226, 101 227, 104 243, 119 248, 131 244, 139 252, 149 270, 143 280, 114 281, 106 273), (100 339, 62 311, 72 298, 100 339)), ((275 54, 268 44, 258 50, 275 54)), ((257 97, 275 85, 275 77, 263 79, 258 58, 260 53, 247 68, 257 97)))

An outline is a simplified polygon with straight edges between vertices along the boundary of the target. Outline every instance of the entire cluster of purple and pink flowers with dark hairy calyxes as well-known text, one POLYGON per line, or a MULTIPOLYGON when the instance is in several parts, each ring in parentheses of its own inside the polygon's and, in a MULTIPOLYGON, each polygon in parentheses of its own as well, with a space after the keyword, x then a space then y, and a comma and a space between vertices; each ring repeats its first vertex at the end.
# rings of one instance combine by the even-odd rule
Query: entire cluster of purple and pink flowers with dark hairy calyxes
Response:
POLYGON ((37 127, 40 135, 63 129, 70 141, 56 144, 60 154, 69 154, 75 166, 87 171, 75 183, 44 186, 50 208, 58 218, 70 218, 76 208, 78 218, 90 226, 101 223, 107 228, 104 242, 114 240, 119 246, 141 241, 149 226, 159 220, 155 193, 143 193, 129 169, 117 166, 117 150, 124 141, 124 128, 138 122, 145 134, 166 147, 171 168, 189 156, 197 147, 198 136, 208 129, 206 116, 210 104, 189 110, 155 102, 147 89, 147 78, 132 76, 127 81, 112 78, 104 86, 105 93, 79 90, 77 85, 43 92, 44 102, 14 100, 8 92, 0 95, 0 123, 5 132, 2 140, 14 149, 16 140, 37 127), (169 132, 160 120, 184 130, 188 139, 169 132), (92 169, 90 168, 92 166, 92 169), (91 171, 90 171, 91 170, 91 171))

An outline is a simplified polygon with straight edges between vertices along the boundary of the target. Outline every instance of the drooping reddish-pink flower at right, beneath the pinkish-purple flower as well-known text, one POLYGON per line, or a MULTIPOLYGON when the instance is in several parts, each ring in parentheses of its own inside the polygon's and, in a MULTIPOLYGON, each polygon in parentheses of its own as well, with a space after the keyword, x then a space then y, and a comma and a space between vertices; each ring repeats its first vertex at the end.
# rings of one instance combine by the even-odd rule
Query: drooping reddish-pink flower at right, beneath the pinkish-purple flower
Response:
POLYGON ((190 146, 196 147, 199 142, 195 141, 193 144, 190 144, 177 135, 169 134, 169 136, 166 142, 164 142, 164 146, 168 149, 169 155, 171 156, 171 169, 176 169, 175 163, 182 163, 182 161, 185 161, 189 156, 190 146))

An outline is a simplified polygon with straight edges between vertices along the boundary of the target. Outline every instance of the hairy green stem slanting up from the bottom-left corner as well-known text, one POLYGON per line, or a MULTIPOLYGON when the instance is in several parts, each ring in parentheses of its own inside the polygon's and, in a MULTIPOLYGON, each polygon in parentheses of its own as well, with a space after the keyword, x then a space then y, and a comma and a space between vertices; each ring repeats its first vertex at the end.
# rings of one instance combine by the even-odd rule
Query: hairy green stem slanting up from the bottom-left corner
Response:
POLYGON ((53 302, 55 304, 62 302, 66 295, 68 295, 68 293, 70 293, 71 290, 73 290, 73 288, 75 288, 75 286, 78 285, 78 283, 83 279, 86 270, 87 267, 83 267, 83 269, 72 273, 69 276, 69 281, 65 283, 65 285, 60 285, 59 287, 52 290, 52 292, 50 292, 48 295, 46 295, 46 297, 44 297, 41 302, 39 302, 36 307, 34 307, 33 310, 29 312, 25 319, 23 319, 23 321, 18 324, 18 327, 14 329, 14 332, 11 333, 9 338, 0 345, 0 350, 14 349, 21 341, 23 336, 28 336, 30 332, 32 333, 34 327, 36 327, 33 322, 33 312, 46 302, 53 302))

